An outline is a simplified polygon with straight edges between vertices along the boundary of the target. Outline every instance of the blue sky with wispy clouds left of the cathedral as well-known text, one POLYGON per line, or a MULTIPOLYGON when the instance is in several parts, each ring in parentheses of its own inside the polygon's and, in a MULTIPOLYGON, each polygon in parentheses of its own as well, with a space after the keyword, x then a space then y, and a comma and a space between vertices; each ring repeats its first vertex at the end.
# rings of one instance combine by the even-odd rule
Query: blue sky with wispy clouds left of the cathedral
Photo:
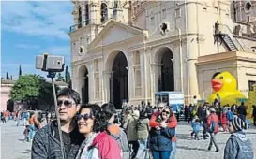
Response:
POLYGON ((6 72, 17 79, 23 74, 46 73, 36 70, 38 54, 65 56, 70 65, 69 27, 73 24, 70 1, 1 2, 1 76, 6 72))

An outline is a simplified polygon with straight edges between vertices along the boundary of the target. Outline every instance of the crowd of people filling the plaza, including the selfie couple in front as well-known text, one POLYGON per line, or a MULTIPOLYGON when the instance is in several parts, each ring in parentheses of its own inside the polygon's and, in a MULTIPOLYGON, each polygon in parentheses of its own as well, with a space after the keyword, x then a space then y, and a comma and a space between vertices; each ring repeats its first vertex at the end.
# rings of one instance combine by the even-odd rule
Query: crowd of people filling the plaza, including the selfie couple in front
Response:
MULTIPOLYGON (((33 140, 32 158, 175 158, 178 122, 166 103, 159 102, 156 107, 144 101, 139 106, 124 103, 119 113, 111 103, 101 107, 82 105, 80 94, 65 88, 57 94, 57 108, 61 135, 55 119, 38 118, 38 112, 29 111, 16 115, 17 125, 23 122, 25 126, 25 140, 33 140)), ((203 139, 209 137, 208 151, 213 146, 215 152, 219 151, 216 137, 219 126, 232 134, 225 146, 224 159, 253 158, 252 143, 243 131, 248 129, 243 115, 246 115, 244 104, 231 108, 207 103, 202 107, 185 107, 185 118, 193 130, 191 136, 200 139, 203 127, 203 139)))

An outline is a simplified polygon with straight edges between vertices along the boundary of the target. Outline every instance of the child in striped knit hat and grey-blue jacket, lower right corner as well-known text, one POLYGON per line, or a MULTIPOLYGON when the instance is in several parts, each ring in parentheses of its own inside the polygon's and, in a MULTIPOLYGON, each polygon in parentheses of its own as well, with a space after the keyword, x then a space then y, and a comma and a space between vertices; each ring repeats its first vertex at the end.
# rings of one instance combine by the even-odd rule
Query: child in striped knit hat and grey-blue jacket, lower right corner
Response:
POLYGON ((243 131, 247 128, 247 123, 238 117, 234 117, 229 123, 229 131, 232 135, 226 143, 224 159, 253 158, 251 141, 243 131))

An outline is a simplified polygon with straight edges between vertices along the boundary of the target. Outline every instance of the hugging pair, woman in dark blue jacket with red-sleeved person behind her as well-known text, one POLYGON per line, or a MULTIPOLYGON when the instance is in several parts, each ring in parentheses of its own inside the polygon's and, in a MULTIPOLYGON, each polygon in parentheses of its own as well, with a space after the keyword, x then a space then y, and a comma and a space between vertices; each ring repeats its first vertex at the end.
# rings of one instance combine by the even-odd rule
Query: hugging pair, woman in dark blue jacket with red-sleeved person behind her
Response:
POLYGON ((172 140, 175 136, 175 128, 170 126, 173 116, 174 114, 171 108, 165 106, 159 111, 155 123, 150 123, 152 128, 150 131, 149 146, 154 159, 170 158, 173 150, 172 140))

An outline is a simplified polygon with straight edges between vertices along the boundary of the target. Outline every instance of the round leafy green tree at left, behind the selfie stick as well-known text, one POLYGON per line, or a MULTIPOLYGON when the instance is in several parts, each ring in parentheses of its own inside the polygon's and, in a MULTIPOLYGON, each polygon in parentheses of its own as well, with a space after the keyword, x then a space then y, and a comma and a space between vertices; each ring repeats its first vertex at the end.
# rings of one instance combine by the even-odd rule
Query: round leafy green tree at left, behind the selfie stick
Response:
MULTIPOLYGON (((56 91, 58 91, 56 87, 56 91)), ((10 92, 11 99, 22 101, 28 107, 37 108, 35 105, 50 105, 53 102, 52 84, 38 75, 21 76, 10 92)))

